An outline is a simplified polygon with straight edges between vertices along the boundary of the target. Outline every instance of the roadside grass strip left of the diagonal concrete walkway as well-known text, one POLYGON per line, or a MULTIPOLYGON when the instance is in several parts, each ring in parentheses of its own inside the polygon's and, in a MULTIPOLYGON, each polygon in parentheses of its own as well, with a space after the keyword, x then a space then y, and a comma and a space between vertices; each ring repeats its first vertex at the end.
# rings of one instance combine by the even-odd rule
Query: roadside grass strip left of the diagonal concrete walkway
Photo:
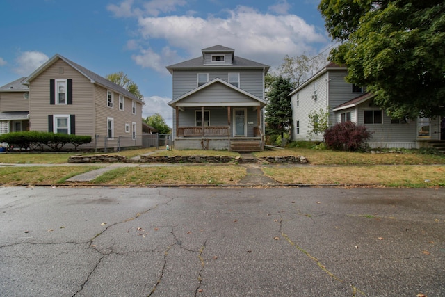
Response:
POLYGON ((101 168, 100 166, 32 166, 1 167, 1 184, 63 184, 74 175, 101 168))

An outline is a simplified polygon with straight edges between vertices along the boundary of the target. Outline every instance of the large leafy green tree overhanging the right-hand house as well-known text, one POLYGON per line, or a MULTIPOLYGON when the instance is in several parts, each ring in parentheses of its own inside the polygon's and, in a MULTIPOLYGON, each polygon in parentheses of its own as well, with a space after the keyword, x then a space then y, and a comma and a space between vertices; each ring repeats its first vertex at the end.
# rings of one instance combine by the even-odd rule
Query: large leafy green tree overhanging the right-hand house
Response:
POLYGON ((322 0, 334 62, 392 118, 445 115, 445 1, 322 0))

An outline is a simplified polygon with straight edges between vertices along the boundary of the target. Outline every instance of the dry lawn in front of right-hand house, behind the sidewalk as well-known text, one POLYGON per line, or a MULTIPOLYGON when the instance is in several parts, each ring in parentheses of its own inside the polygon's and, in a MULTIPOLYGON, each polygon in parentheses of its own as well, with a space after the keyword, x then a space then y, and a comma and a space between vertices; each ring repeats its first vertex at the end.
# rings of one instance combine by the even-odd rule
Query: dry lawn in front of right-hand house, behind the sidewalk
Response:
POLYGON ((305 156, 312 165, 430 165, 445 164, 444 155, 434 154, 370 154, 335 152, 293 147, 284 150, 256 152, 255 156, 305 156))

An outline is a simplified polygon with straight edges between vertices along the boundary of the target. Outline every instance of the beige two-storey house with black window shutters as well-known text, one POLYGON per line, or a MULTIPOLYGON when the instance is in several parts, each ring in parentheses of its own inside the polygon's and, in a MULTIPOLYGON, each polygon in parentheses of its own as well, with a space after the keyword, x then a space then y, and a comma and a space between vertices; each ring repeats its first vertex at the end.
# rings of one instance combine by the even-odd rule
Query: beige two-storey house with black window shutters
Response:
POLYGON ((20 107, 27 106, 29 130, 91 136, 83 149, 142 145, 143 102, 85 67, 56 54, 20 82, 27 86, 22 94, 29 91, 29 99, 8 94, 8 100, 29 102, 20 107))

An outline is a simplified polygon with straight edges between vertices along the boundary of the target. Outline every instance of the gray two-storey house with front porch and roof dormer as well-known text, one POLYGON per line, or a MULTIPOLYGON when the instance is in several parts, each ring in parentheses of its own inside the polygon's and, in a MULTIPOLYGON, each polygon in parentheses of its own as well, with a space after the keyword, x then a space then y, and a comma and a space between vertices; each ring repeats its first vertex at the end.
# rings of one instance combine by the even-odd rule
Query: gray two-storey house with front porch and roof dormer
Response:
POLYGON ((167 67, 172 74, 173 141, 177 149, 264 148, 264 76, 269 66, 216 45, 167 67))

